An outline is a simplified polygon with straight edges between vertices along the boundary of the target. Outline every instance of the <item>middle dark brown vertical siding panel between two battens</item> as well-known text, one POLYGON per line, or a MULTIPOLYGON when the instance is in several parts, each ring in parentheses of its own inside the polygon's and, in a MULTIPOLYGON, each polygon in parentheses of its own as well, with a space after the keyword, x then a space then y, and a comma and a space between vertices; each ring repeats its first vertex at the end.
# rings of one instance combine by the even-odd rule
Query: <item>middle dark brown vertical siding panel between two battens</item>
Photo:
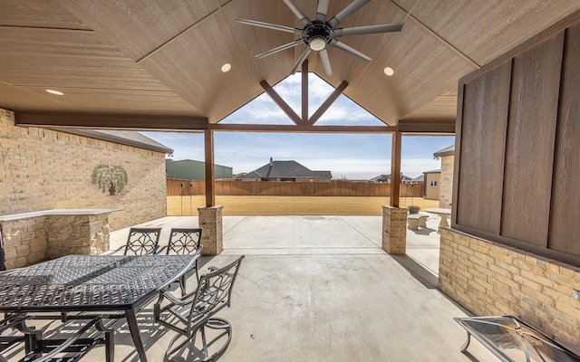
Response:
POLYGON ((564 33, 514 58, 501 233, 546 246, 564 33))

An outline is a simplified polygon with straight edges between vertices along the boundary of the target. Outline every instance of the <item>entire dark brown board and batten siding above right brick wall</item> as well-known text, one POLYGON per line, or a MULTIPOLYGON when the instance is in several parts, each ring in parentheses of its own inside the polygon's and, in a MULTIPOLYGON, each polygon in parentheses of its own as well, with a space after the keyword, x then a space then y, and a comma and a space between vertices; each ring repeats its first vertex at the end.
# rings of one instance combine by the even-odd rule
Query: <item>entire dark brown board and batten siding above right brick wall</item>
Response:
POLYGON ((452 227, 580 266, 574 16, 459 81, 452 227))

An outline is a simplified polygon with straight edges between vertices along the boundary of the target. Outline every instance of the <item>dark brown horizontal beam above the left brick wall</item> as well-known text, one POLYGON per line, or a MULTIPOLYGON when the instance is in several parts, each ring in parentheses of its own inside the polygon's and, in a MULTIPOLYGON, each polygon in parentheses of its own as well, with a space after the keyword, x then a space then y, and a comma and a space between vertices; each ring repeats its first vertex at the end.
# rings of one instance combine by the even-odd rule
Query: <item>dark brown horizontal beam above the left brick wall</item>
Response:
POLYGON ((140 130, 204 130, 208 129, 207 117, 111 115, 92 113, 16 112, 16 126, 75 127, 92 129, 140 129, 140 130))

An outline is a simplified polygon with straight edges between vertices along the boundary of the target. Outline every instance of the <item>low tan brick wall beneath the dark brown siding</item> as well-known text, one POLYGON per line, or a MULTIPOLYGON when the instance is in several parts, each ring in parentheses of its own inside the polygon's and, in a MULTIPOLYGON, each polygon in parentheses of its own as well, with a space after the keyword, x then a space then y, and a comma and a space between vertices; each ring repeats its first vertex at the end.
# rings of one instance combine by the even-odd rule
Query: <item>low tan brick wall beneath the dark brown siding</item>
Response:
POLYGON ((441 229, 439 288, 477 316, 516 316, 580 354, 578 268, 441 229))

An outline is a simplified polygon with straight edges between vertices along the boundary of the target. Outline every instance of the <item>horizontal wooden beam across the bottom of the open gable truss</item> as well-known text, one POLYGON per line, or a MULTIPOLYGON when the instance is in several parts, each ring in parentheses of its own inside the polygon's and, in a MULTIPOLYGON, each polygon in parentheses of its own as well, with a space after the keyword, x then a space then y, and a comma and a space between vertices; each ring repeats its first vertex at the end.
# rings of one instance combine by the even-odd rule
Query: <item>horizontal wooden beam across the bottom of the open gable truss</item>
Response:
POLYGON ((294 126, 254 124, 210 124, 216 132, 285 132, 285 133, 394 133, 397 126, 294 126))

